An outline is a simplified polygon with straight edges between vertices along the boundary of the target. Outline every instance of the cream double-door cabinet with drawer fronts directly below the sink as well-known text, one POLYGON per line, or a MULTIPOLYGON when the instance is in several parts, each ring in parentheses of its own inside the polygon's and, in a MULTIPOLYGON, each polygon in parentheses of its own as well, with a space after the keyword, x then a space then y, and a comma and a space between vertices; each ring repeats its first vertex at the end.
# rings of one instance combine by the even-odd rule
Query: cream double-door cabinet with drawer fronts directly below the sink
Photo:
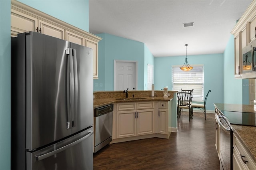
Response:
POLYGON ((118 103, 117 110, 117 138, 154 133, 154 102, 118 103))

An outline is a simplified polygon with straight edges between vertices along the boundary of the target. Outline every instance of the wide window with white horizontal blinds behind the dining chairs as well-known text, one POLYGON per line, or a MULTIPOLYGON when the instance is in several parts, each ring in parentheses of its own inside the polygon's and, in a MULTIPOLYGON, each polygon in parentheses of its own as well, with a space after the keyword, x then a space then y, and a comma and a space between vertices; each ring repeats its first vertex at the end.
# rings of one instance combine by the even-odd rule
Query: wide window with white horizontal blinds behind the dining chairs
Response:
POLYGON ((193 90, 192 101, 204 101, 204 65, 193 65, 190 71, 182 71, 180 66, 172 66, 172 90, 193 90))

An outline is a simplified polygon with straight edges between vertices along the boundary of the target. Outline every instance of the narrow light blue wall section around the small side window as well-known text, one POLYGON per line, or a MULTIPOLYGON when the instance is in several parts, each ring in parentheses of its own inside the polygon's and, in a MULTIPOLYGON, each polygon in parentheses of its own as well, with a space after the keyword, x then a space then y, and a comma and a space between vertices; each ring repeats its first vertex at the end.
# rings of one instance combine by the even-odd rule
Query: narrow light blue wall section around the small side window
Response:
MULTIPOLYGON (((144 90, 148 89, 148 64, 150 65, 154 65, 154 56, 152 55, 152 53, 149 51, 148 47, 146 45, 144 45, 144 90)), ((154 84, 154 80, 153 80, 153 84, 154 84)))

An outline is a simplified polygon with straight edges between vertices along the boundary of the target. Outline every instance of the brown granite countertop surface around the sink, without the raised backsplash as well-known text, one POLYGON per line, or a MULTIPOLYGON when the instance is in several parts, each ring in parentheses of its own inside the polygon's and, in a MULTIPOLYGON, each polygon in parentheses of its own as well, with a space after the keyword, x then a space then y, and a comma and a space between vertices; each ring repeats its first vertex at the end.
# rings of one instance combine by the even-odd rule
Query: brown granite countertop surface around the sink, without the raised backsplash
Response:
POLYGON ((129 97, 125 98, 127 100, 116 100, 116 98, 104 98, 104 99, 93 99, 93 107, 102 107, 105 105, 109 105, 112 103, 121 103, 121 102, 138 102, 138 101, 170 101, 172 98, 170 97, 142 97, 145 99, 138 99, 138 97, 129 97))

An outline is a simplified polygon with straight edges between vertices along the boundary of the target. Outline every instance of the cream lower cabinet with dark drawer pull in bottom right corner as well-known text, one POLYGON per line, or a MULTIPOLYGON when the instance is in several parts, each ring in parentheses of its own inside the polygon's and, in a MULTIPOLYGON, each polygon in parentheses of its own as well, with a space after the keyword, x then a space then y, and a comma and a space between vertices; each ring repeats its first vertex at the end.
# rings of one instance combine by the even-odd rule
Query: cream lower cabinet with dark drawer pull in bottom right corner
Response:
POLYGON ((256 170, 256 163, 246 151, 236 134, 233 134, 233 170, 256 170))

